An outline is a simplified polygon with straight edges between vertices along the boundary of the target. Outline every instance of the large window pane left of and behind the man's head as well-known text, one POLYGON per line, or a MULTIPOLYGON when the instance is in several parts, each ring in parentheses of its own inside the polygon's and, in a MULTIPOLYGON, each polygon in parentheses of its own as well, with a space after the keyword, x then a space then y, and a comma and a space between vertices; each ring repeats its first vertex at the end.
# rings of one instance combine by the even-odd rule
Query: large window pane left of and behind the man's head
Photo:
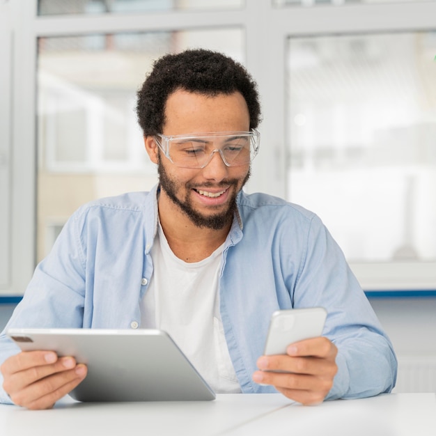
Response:
POLYGON ((159 56, 199 46, 244 62, 244 33, 236 28, 40 38, 38 260, 82 203, 155 184, 137 125, 137 89, 159 56))

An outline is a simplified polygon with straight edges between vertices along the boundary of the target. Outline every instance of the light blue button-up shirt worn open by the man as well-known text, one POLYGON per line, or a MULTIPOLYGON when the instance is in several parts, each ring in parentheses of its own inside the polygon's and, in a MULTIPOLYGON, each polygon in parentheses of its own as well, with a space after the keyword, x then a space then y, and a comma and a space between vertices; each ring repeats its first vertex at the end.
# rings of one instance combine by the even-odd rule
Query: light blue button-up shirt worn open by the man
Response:
MULTIPOLYGON (((36 267, 9 327, 137 328, 153 274, 157 187, 81 206, 36 267)), ((238 195, 219 277, 228 351, 243 393, 275 392, 251 380, 277 309, 322 306, 338 348, 327 398, 389 392, 392 345, 332 236, 304 208, 266 194, 238 195)), ((140 327, 140 325, 139 325, 140 327)), ((4 331, 0 364, 19 352, 4 331)), ((0 388, 0 401, 10 403, 0 388)))

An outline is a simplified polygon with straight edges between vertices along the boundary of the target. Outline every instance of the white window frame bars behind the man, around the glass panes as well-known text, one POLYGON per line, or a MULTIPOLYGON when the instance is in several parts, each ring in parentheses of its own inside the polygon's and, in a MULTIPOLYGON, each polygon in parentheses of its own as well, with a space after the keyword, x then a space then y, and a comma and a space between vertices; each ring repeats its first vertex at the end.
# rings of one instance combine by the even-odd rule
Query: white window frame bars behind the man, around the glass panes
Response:
MULTIPOLYGON (((249 192, 286 197, 286 41, 289 37, 436 30, 436 1, 277 8, 271 0, 246 1, 242 9, 176 10, 113 15, 38 16, 37 0, 9 0, 0 7, 10 22, 0 53, 10 41, 10 271, 1 295, 22 295, 36 262, 36 47, 41 36, 172 31, 242 26, 245 65, 258 82, 263 107, 260 154, 249 192), (274 176, 272 176, 272 174, 274 176)), ((6 109, 5 109, 6 107, 6 109)), ((8 135, 8 132, 6 132, 8 135)), ((3 137, 1 138, 3 139, 3 137)), ((8 139, 9 140, 9 139, 8 139)), ((316 212, 316 211, 315 211, 316 212)), ((436 263, 352 263, 365 290, 436 290, 436 263)), ((1 282, 1 280, 0 280, 1 282)), ((392 293, 391 295, 394 295, 392 293)))

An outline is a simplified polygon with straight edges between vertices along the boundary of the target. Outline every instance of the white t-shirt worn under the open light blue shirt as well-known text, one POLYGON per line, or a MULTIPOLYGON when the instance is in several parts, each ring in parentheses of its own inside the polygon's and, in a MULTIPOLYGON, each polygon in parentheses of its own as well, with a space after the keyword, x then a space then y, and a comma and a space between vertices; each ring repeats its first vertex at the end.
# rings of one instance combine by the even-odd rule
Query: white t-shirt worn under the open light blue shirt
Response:
POLYGON ((141 327, 167 332, 218 394, 241 391, 219 314, 223 247, 186 263, 173 254, 159 224, 151 249, 154 272, 141 304, 141 327))

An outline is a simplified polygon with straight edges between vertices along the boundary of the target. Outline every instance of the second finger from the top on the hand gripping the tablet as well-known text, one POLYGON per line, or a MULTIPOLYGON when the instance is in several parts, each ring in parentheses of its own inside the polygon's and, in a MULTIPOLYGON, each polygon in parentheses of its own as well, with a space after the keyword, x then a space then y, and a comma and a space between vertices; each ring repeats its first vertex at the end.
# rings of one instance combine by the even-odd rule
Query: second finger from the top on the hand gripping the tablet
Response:
POLYGON ((73 357, 61 357, 54 364, 33 366, 13 373, 4 378, 3 388, 9 395, 21 391, 25 387, 54 373, 61 373, 75 368, 76 361, 73 357))

